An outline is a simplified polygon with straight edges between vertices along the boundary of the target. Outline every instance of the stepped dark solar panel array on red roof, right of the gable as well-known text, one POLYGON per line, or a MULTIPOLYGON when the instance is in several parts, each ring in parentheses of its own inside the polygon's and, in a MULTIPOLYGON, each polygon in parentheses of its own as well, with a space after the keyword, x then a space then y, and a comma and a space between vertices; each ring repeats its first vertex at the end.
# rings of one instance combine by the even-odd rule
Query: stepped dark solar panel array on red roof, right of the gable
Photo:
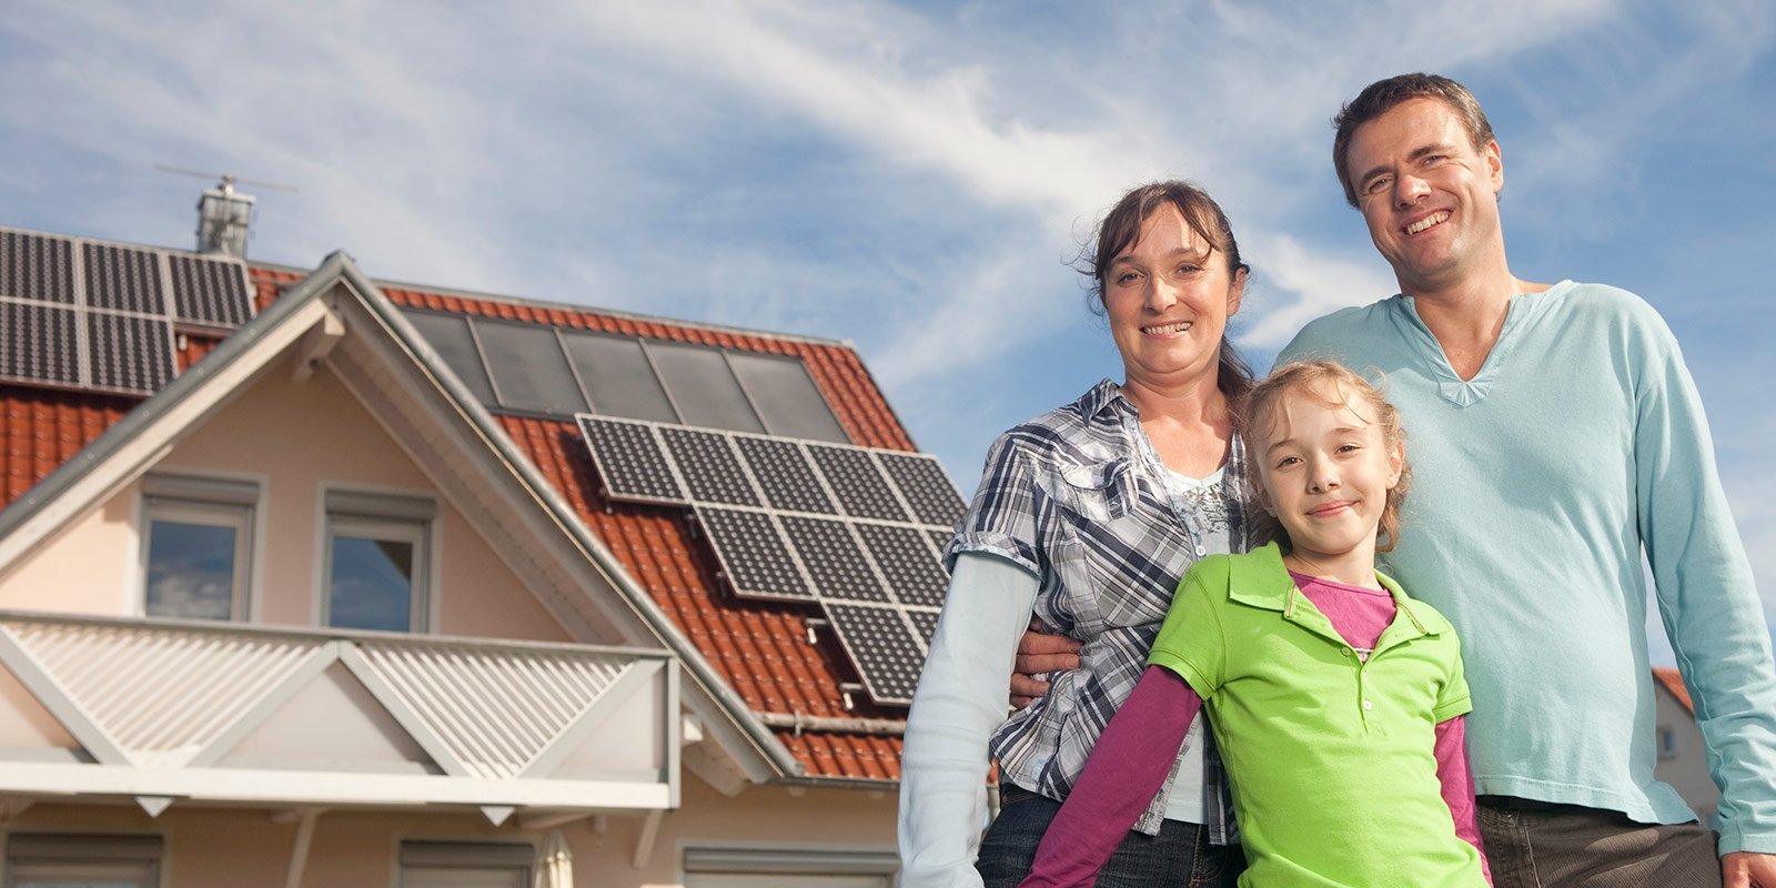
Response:
POLYGON ((963 497, 924 453, 579 416, 604 494, 687 506, 742 599, 810 602, 877 703, 908 705, 963 497))

